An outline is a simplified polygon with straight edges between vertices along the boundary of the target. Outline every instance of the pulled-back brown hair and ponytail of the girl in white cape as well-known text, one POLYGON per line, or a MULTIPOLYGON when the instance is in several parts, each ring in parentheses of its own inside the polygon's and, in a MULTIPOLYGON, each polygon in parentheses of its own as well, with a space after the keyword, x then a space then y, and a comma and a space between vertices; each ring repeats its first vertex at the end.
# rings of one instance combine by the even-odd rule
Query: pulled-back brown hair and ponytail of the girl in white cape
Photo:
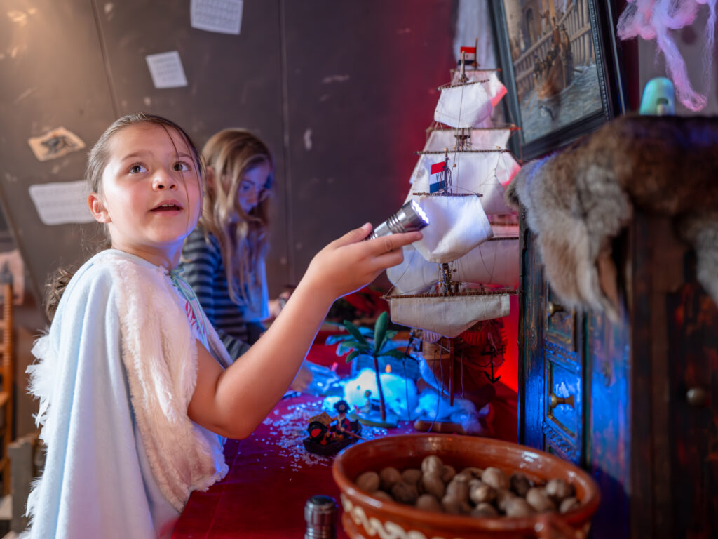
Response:
MULTIPOLYGON (((162 127, 166 132, 168 129, 174 129, 174 131, 180 134, 180 137, 185 140, 187 148, 190 149, 192 159, 195 161, 195 170, 199 176, 200 185, 204 188, 205 169, 202 159, 200 158, 200 152, 197 150, 195 143, 192 142, 192 137, 172 120, 154 114, 135 112, 122 116, 120 119, 114 121, 113 124, 101 134, 92 149, 90 149, 88 153, 88 164, 85 168, 85 182, 87 183, 88 193, 102 194, 102 175, 110 159, 110 141, 112 137, 121 131, 121 129, 138 124, 154 124, 162 127)), ((172 140, 172 137, 170 137, 170 140, 172 140)), ((99 251, 107 249, 108 247, 110 247, 110 243, 108 236, 106 236, 99 241, 98 249, 96 250, 99 251)), ((52 318, 55 316, 55 310, 57 310, 57 305, 60 303, 62 293, 65 292, 65 288, 74 274, 75 270, 60 268, 47 281, 45 285, 45 301, 43 303, 45 303, 45 314, 47 314, 47 318, 50 321, 52 321, 52 318)))

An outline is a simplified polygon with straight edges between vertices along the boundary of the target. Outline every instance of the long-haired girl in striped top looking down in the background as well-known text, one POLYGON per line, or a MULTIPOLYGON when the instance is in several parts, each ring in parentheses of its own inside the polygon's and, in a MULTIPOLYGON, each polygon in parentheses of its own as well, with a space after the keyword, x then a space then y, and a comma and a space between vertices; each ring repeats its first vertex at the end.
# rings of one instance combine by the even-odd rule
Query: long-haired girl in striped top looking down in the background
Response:
POLYGON ((214 134, 202 157, 207 188, 200 221, 182 248, 182 278, 237 358, 280 310, 279 300, 268 301, 264 270, 274 162, 266 144, 244 129, 214 134))

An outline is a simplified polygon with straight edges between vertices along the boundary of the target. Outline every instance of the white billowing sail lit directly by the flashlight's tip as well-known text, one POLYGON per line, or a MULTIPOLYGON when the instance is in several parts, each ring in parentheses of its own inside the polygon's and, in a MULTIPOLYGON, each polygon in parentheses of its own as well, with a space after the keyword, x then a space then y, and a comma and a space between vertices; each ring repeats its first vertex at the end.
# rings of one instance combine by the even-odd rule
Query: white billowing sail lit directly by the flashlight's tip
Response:
POLYGON ((424 237, 414 242, 416 250, 429 262, 451 262, 493 236, 477 196, 412 197, 431 223, 421 231, 424 237))

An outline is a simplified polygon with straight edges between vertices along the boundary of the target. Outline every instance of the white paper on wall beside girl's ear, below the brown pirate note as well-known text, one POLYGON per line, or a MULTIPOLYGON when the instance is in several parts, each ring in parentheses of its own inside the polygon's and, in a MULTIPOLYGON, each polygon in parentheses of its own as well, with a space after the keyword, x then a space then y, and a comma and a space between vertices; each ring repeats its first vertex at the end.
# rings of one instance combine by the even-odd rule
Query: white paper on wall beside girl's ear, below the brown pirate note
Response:
POLYGON ((30 185, 30 198, 37 215, 46 225, 93 223, 83 181, 30 185))

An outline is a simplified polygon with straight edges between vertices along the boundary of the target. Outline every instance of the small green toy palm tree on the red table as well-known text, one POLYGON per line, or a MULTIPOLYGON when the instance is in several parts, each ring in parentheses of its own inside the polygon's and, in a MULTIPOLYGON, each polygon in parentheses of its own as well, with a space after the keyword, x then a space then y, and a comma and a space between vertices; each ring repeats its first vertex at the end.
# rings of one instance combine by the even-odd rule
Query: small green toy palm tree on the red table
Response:
POLYGON ((379 410, 381 412, 381 420, 386 421, 386 405, 384 404, 384 392, 381 388, 381 377, 379 370, 379 359, 381 357, 394 357, 397 359, 406 359, 411 356, 401 350, 397 350, 391 346, 391 339, 396 336, 397 331, 388 330, 389 316, 386 310, 381 313, 374 323, 374 338, 370 342, 371 330, 368 328, 360 328, 355 326, 348 320, 344 321, 344 327, 349 331, 349 335, 335 336, 327 339, 327 344, 339 343, 337 354, 343 354, 350 351, 347 356, 347 363, 352 361, 356 356, 361 354, 371 356, 374 360, 374 371, 376 372, 376 387, 379 391, 379 410))

